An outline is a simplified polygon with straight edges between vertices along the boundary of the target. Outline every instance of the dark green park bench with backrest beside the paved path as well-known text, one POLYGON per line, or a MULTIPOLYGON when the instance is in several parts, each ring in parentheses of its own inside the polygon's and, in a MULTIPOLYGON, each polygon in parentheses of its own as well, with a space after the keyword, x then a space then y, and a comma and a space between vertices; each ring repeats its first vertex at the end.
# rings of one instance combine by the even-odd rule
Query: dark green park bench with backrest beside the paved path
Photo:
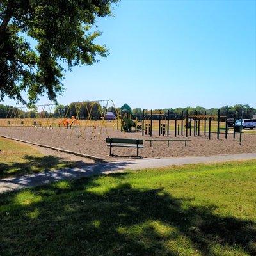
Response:
POLYGON ((137 156, 139 156, 139 148, 143 148, 143 140, 138 139, 126 139, 126 138, 106 138, 106 143, 110 147, 109 156, 113 156, 113 147, 130 147, 137 148, 137 156))

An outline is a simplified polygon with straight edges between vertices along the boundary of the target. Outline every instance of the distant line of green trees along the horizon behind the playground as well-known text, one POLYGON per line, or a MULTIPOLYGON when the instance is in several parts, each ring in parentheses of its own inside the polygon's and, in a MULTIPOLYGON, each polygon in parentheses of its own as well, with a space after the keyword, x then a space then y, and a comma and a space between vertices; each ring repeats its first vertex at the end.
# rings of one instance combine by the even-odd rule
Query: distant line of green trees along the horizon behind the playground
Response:
MULTIPOLYGON (((45 108, 46 109, 46 108, 45 108)), ((106 112, 110 111, 115 113, 116 112, 120 114, 120 108, 114 108, 113 106, 106 109, 106 107, 101 106, 97 102, 72 102, 68 105, 58 105, 54 109, 52 109, 52 112, 45 109, 29 109, 29 111, 24 111, 24 109, 19 109, 13 106, 0 104, 0 118, 6 118, 6 117, 12 117, 16 113, 16 117, 20 118, 48 118, 48 117, 54 117, 54 118, 71 118, 72 116, 78 117, 79 119, 87 119, 90 113, 90 118, 93 120, 99 120, 99 118, 106 112), (78 116, 77 116, 78 115, 78 116)), ((181 115, 182 111, 184 115, 186 114, 186 111, 188 110, 188 113, 195 113, 197 111, 198 114, 204 114, 205 111, 207 111, 207 115, 217 115, 218 114, 218 108, 211 108, 206 109, 204 107, 197 106, 196 108, 193 107, 186 107, 186 108, 166 108, 166 109, 152 109, 154 115, 153 119, 159 118, 159 112, 161 111, 163 113, 167 113, 169 110, 170 118, 174 118, 174 116, 181 115)), ((243 118, 253 118, 253 115, 256 115, 256 108, 250 107, 249 105, 242 105, 242 104, 236 104, 234 106, 223 106, 220 108, 220 114, 225 115, 226 111, 228 110, 228 117, 229 118, 236 118, 239 119, 243 112, 243 118)), ((137 118, 138 120, 141 120, 142 118, 142 109, 141 108, 134 108, 132 109, 134 113, 134 118, 137 118)), ((150 109, 146 109, 145 112, 149 112, 150 109)))

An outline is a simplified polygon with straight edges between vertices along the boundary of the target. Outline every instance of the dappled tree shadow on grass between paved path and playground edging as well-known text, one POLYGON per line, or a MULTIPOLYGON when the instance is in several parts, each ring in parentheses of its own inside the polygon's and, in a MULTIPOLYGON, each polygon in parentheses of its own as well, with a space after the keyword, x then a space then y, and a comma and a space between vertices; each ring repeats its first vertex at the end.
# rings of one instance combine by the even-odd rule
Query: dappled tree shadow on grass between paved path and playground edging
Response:
POLYGON ((0 178, 86 165, 83 161, 71 162, 51 155, 42 157, 25 155, 23 160, 23 162, 0 163, 0 178))

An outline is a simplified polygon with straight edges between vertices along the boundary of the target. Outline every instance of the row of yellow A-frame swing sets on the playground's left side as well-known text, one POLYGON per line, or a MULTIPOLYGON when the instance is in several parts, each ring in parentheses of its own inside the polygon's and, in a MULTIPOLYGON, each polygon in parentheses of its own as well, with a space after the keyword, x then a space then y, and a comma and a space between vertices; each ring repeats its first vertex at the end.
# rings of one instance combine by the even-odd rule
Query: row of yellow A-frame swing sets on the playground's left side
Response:
MULTIPOLYGON (((108 137, 108 128, 122 129, 121 115, 115 108, 113 100, 95 100, 86 102, 74 102, 68 106, 57 106, 55 104, 38 105, 28 109, 26 106, 10 108, 6 118, 1 120, 1 126, 15 127, 16 129, 38 129, 51 128, 53 131, 61 132, 69 130, 70 136, 76 132, 81 138, 98 138, 102 132, 108 137), (115 109, 115 119, 106 120, 106 112, 109 107, 115 109), (91 136, 92 135, 92 136, 91 136)), ((25 130, 24 130, 25 131, 25 130)), ((125 136, 125 134, 124 134, 125 136)))

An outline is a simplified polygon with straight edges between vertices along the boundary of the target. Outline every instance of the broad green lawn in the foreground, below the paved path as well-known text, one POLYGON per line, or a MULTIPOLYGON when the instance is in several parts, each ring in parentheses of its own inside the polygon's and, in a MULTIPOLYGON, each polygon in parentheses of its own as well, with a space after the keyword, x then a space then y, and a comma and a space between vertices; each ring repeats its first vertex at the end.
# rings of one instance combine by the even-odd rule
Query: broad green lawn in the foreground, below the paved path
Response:
POLYGON ((256 161, 129 171, 0 196, 0 255, 256 255, 256 161))

